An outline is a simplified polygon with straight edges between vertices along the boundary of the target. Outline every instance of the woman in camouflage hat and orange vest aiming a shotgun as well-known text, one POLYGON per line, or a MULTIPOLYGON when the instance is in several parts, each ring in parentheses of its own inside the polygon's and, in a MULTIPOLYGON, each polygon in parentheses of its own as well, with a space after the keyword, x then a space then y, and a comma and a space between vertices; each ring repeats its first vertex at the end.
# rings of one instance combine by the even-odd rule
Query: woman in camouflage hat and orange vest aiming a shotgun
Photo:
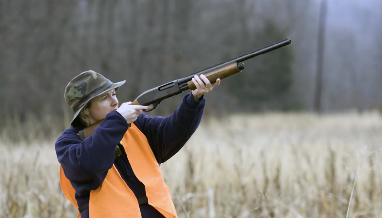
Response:
POLYGON ((64 97, 75 115, 55 149, 63 193, 79 210, 78 217, 177 217, 159 165, 196 131, 204 94, 220 85, 220 79, 211 84, 204 75, 192 81, 197 89, 165 118, 144 114, 149 106, 126 102, 119 107, 115 93, 125 81, 112 83, 89 70, 68 83, 64 97), (81 140, 79 131, 102 119, 81 140))

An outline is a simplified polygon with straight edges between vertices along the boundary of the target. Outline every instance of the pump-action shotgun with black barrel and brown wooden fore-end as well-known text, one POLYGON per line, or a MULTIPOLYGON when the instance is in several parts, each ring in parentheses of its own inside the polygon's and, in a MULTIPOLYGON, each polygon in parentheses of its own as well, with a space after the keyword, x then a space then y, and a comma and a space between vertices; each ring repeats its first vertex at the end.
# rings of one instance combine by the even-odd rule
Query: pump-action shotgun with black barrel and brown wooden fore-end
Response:
MULTIPOLYGON (((264 47, 262 49, 256 50, 255 52, 242 55, 240 57, 233 58, 231 60, 228 60, 226 62, 217 64, 215 66, 209 67, 207 69, 198 71, 196 73, 192 73, 188 76, 185 76, 181 79, 176 79, 174 81, 165 83, 163 85, 160 85, 158 87, 149 89, 142 94, 140 94, 131 104, 132 105, 152 105, 153 107, 148 110, 144 110, 145 112, 149 112, 153 109, 155 109, 158 104, 167 98, 170 98, 172 96, 178 95, 186 90, 195 90, 196 86, 192 81, 192 78, 195 75, 201 75, 204 74, 208 80, 211 83, 215 83, 218 78, 224 79, 226 77, 232 76, 236 73, 241 72, 244 70, 245 65, 243 61, 246 61, 248 59, 254 58, 255 56, 265 54, 267 52, 273 51, 275 49, 279 49, 281 47, 284 47, 286 45, 289 45, 292 43, 292 40, 288 37, 287 39, 277 42, 275 44, 269 45, 267 47, 264 47)), ((86 127, 85 129, 81 130, 79 132, 80 138, 83 140, 86 137, 92 135, 94 133, 94 129, 99 126, 99 124, 103 121, 99 120, 98 122, 86 127)), ((131 126, 131 124, 129 124, 131 126)))

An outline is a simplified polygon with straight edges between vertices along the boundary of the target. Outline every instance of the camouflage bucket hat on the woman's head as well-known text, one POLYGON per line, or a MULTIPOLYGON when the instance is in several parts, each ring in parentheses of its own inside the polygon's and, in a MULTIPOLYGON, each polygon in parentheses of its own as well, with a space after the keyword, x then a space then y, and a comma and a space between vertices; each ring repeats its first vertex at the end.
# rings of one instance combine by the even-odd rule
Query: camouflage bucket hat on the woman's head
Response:
POLYGON ((66 102, 70 105, 73 112, 75 112, 70 125, 81 122, 76 118, 78 117, 79 112, 92 98, 102 95, 112 89, 116 89, 117 92, 118 88, 124 83, 125 80, 113 83, 93 70, 82 72, 71 79, 65 87, 64 95, 66 102))

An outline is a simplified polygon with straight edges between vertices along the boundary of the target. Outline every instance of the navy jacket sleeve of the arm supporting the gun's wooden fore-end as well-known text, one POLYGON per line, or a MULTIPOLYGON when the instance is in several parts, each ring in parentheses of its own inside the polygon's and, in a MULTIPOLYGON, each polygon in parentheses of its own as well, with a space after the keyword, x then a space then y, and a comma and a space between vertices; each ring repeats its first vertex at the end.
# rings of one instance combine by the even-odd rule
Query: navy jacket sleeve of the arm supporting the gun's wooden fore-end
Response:
POLYGON ((204 96, 196 101, 189 93, 168 117, 144 113, 138 116, 135 123, 145 134, 158 163, 170 159, 190 139, 201 122, 204 105, 204 96))

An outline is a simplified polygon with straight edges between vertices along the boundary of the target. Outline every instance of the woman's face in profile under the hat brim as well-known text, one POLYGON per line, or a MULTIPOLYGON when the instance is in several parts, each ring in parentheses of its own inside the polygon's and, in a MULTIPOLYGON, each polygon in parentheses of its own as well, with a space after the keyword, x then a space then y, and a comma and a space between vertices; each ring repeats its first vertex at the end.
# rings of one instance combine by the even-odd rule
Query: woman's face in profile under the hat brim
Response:
POLYGON ((100 96, 91 100, 91 105, 88 108, 90 119, 97 122, 104 119, 106 115, 118 109, 118 99, 115 89, 112 89, 100 96))

